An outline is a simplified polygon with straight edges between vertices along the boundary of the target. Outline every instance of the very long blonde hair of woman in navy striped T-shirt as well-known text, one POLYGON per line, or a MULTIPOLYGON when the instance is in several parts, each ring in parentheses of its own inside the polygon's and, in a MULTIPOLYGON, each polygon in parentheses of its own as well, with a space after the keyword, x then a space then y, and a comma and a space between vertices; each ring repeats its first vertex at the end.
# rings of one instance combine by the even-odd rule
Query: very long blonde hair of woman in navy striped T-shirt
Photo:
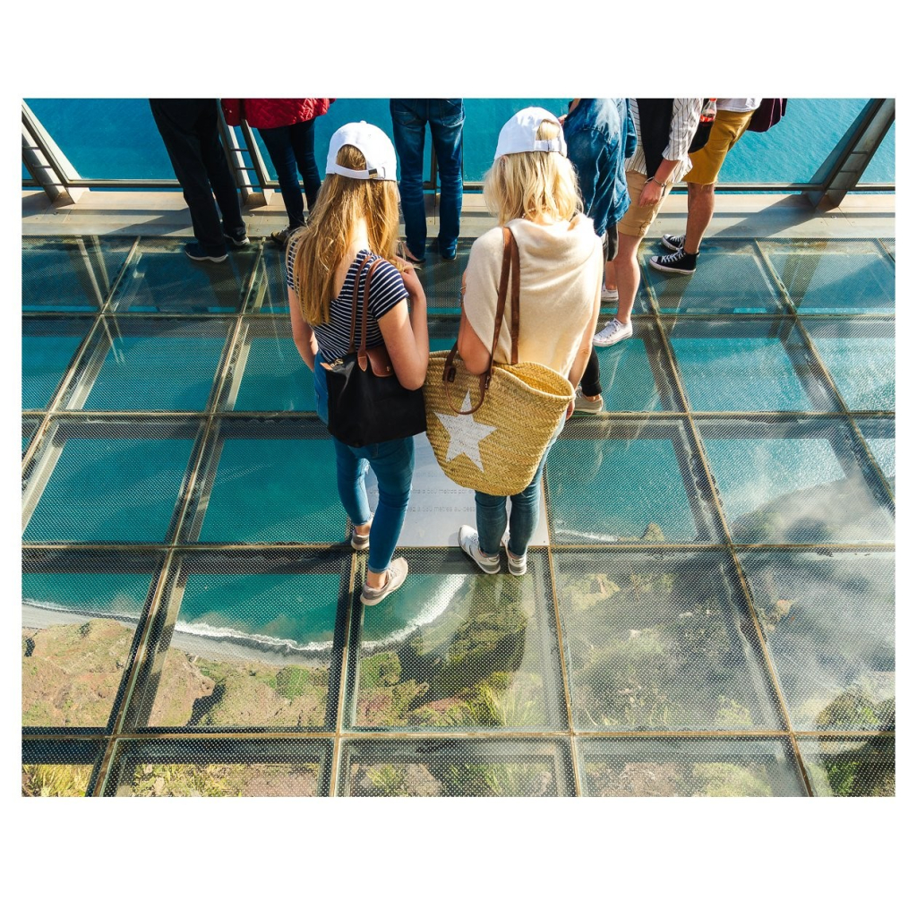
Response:
MULTIPOLYGON (((337 163, 365 169, 366 157, 349 144, 337 152, 337 163)), ((366 218, 370 249, 395 264, 398 246, 398 192, 395 182, 348 178, 332 172, 322 182, 308 226, 298 229, 287 245, 296 244, 293 287, 300 310, 310 325, 326 325, 335 294, 335 271, 347 257, 353 227, 366 218)), ((397 266, 397 265, 396 265, 397 266)))

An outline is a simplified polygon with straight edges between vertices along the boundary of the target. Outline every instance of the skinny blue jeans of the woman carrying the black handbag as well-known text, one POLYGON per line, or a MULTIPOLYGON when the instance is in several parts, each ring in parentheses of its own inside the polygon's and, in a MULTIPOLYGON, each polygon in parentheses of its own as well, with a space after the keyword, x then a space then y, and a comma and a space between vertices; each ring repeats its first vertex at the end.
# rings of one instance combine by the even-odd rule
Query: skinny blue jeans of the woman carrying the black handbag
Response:
MULTIPOLYGON (((327 423, 328 389, 321 353, 315 357, 315 409, 327 423)), ((337 461, 337 495, 354 525, 370 521, 370 502, 366 495, 366 472, 370 468, 379 481, 379 503, 370 528, 371 573, 384 573, 392 563, 411 499, 414 477, 414 439, 392 439, 374 446, 353 447, 334 436, 337 461)))

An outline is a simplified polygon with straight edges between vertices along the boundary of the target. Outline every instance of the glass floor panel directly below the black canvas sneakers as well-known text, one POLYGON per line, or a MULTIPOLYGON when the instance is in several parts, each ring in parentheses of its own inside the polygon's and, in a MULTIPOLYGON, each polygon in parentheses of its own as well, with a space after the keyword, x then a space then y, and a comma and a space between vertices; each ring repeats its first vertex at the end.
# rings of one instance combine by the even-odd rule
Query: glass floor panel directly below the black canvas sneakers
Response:
POLYGON ((707 240, 698 270, 691 276, 656 271, 649 260, 668 249, 656 240, 640 248, 641 288, 648 287, 662 315, 755 315, 783 313, 786 306, 754 242, 745 239, 707 240))

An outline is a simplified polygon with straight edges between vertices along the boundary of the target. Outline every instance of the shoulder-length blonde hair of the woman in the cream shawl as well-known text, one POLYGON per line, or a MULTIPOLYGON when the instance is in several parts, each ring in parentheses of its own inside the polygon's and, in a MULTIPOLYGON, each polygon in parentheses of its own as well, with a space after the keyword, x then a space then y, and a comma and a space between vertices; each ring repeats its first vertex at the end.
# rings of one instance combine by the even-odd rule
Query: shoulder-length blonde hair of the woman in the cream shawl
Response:
MULTIPOLYGON (((560 133, 554 121, 542 121, 536 138, 551 140, 560 133)), ((539 215, 571 220, 582 212, 576 172, 558 153, 510 153, 496 160, 484 176, 484 203, 501 226, 519 217, 539 215)))

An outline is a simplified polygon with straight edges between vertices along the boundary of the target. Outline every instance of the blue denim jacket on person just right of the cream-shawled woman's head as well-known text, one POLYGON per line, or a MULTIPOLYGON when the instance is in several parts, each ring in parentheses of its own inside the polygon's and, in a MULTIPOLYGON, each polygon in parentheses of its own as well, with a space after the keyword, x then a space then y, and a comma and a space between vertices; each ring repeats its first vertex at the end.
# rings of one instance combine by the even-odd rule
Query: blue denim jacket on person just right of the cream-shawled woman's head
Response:
POLYGON ((627 100, 580 99, 564 121, 564 139, 586 215, 602 237, 630 206, 624 160, 634 155, 636 131, 627 100))

